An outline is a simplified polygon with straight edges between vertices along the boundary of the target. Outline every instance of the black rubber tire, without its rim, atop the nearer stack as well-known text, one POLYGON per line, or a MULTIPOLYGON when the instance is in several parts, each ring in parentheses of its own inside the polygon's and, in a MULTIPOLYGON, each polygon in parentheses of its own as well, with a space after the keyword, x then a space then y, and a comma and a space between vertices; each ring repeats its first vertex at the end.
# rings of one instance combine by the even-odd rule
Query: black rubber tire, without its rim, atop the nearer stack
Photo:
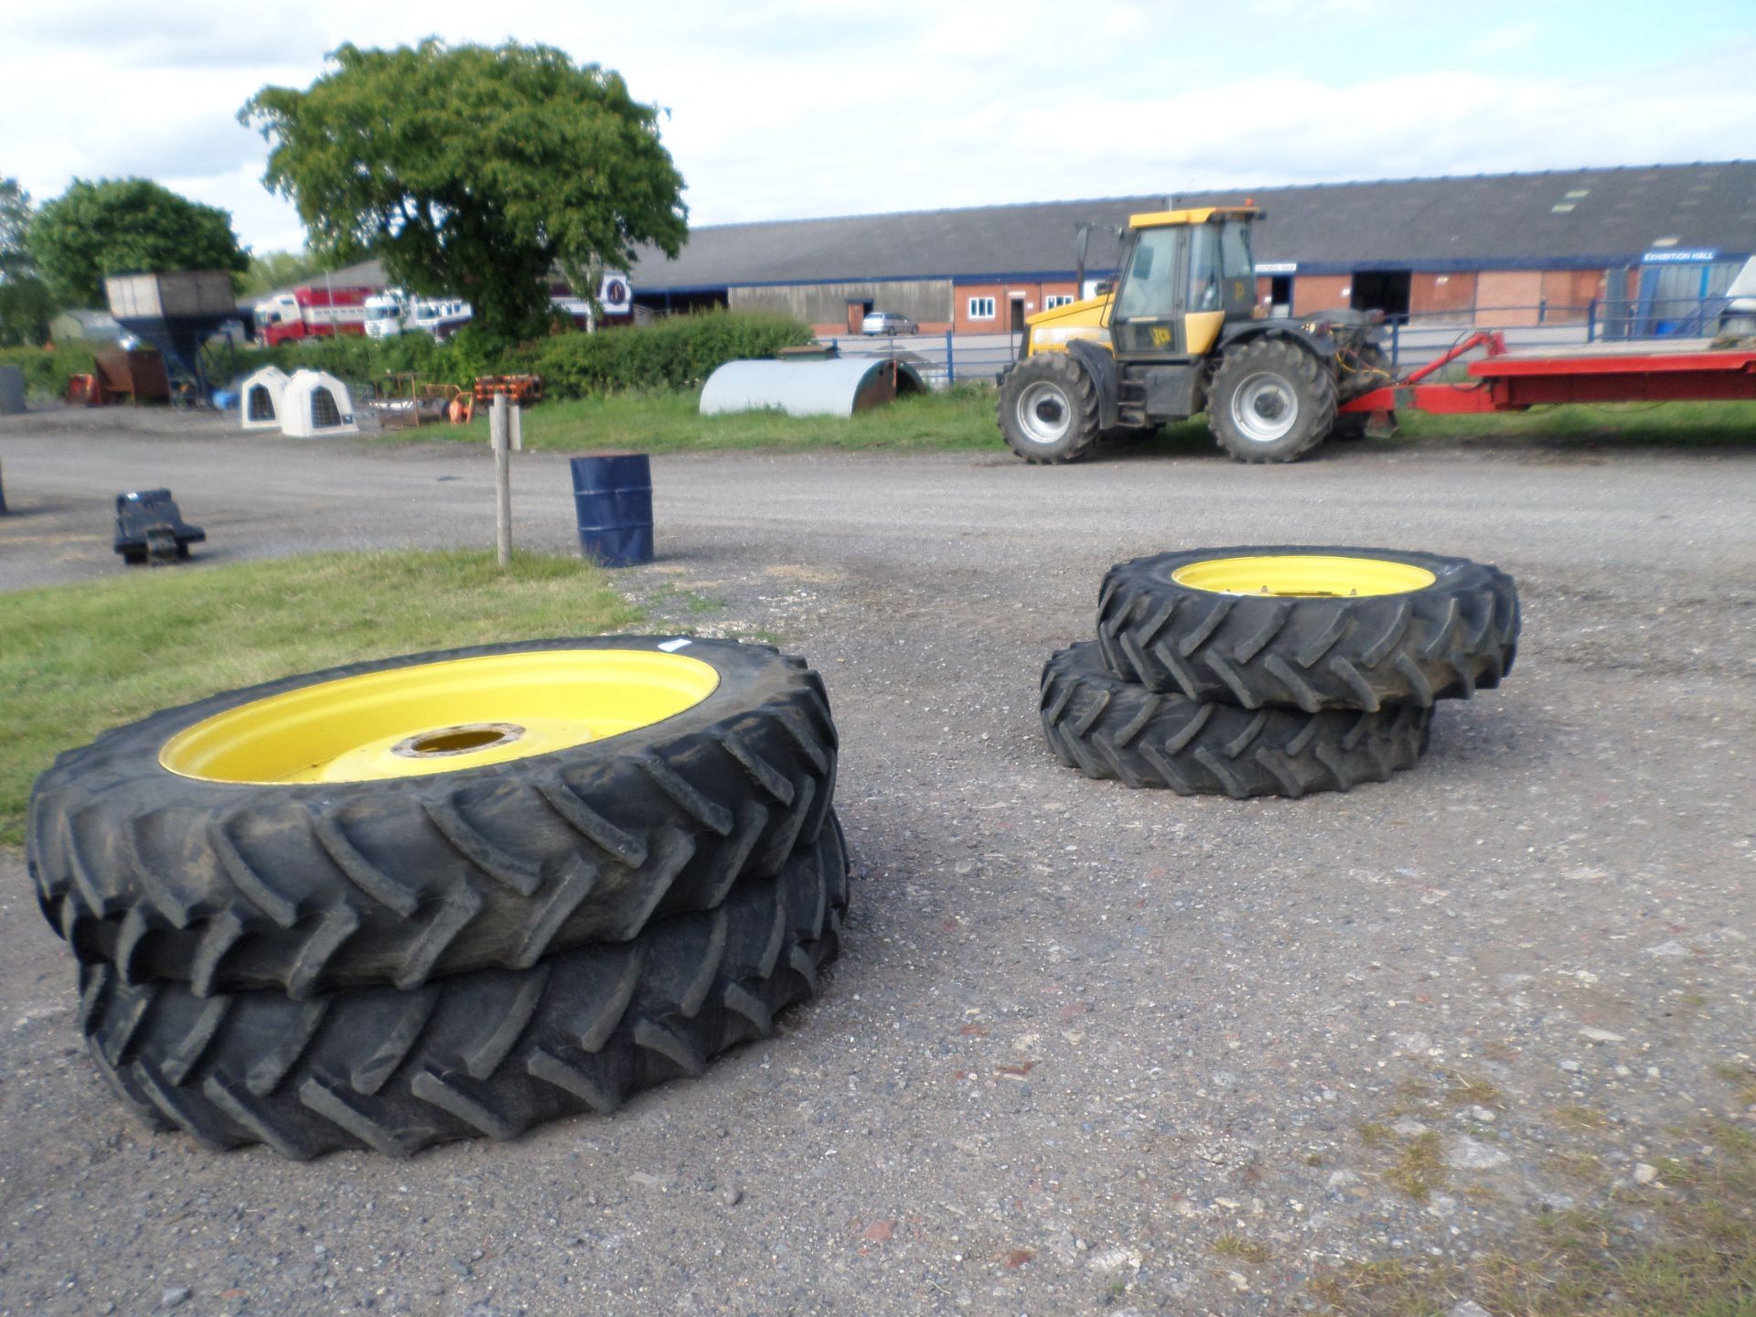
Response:
MULTIPOLYGON (((634 639, 657 637, 604 643, 634 639)), ((581 644, 594 641, 444 657, 581 644)), ((560 752, 348 790, 191 785, 156 752, 209 702, 153 715, 39 778, 26 838, 39 904, 81 961, 202 996, 409 989, 625 941, 651 918, 711 908, 746 874, 776 873, 829 808, 836 729, 818 674, 769 646, 692 651, 715 646, 757 673, 748 701, 674 734, 657 723, 641 745, 585 762, 560 752)))

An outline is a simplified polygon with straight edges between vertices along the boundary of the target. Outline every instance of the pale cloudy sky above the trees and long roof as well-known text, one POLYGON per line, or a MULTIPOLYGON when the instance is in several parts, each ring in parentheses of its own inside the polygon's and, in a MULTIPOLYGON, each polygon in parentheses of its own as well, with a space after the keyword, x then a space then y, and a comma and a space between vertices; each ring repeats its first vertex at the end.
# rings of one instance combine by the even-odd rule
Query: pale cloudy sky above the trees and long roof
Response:
POLYGON ((669 111, 692 225, 1756 156, 1756 0, 58 0, 0 177, 144 176, 297 249, 237 109, 342 42, 558 46, 669 111))

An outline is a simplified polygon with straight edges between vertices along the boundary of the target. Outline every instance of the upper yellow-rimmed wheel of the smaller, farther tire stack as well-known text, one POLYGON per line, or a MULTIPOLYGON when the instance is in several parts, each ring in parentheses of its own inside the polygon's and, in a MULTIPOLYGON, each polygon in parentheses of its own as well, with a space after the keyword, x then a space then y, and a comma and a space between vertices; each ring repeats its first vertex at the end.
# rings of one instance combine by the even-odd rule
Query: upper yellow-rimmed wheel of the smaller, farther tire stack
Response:
POLYGON ((1112 567, 1098 602, 1112 673, 1247 709, 1468 699, 1512 671, 1517 639, 1510 576, 1398 550, 1159 553, 1112 567))

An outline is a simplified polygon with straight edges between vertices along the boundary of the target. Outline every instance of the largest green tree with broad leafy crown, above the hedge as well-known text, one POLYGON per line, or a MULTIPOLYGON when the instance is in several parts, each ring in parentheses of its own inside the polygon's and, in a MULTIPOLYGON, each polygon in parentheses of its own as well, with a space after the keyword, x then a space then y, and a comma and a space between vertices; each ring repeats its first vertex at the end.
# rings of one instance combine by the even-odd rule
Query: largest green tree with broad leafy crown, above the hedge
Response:
POLYGON ((595 288, 637 242, 674 256, 683 177, 658 109, 550 46, 342 46, 307 91, 269 86, 239 119, 269 140, 263 183, 314 251, 376 255, 421 293, 469 297, 495 335, 537 332, 558 269, 595 288))

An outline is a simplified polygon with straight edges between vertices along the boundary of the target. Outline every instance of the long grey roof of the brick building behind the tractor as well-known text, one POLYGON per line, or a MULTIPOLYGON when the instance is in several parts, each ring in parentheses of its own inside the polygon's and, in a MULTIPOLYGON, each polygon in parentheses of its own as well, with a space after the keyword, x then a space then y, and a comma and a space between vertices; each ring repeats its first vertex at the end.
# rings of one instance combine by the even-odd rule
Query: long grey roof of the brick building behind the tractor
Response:
MULTIPOLYGON (((1726 160, 702 225, 690 230, 676 260, 643 251, 630 276, 639 295, 651 295, 732 284, 1071 274, 1082 221, 1098 225, 1087 269, 1103 272, 1115 262, 1113 228, 1129 214, 1243 200, 1268 212, 1256 230, 1256 258, 1305 267, 1589 265, 1638 260, 1659 239, 1728 256, 1756 251, 1756 162, 1726 160)), ((385 284, 378 262, 330 277, 385 284)))

